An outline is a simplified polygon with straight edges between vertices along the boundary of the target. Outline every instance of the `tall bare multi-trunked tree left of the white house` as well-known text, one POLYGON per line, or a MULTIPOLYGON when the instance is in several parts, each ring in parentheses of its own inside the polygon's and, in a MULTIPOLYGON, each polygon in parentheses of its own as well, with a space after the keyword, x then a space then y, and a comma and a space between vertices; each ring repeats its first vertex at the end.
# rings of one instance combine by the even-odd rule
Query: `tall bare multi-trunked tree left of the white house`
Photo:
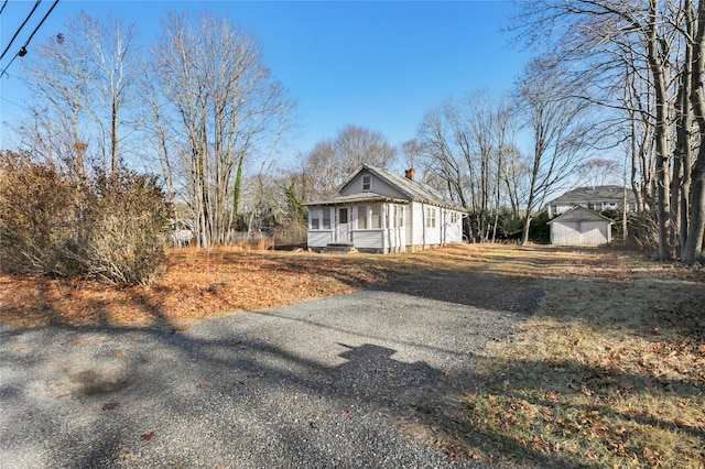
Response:
POLYGON ((227 20, 169 14, 162 26, 154 69, 186 138, 198 243, 217 246, 234 226, 243 163, 278 143, 293 102, 256 41, 227 20))

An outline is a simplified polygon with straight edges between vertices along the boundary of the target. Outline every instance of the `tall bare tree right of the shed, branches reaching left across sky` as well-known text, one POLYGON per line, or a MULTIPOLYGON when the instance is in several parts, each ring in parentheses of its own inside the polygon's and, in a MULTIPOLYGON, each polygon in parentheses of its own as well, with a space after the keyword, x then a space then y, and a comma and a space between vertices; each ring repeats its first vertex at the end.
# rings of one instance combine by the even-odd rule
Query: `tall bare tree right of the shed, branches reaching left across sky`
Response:
MULTIPOLYGON (((685 139, 684 133, 673 142, 672 135, 677 133, 674 124, 679 116, 684 119, 690 107, 684 99, 679 99, 679 95, 683 97, 687 92, 688 80, 682 77, 690 74, 696 61, 696 54, 688 58, 691 54, 685 46, 697 42, 695 29, 688 25, 692 23, 688 17, 696 18, 692 1, 539 0, 522 3, 522 7, 518 24, 523 29, 523 36, 532 44, 550 44, 563 61, 571 63, 573 79, 582 83, 578 92, 582 98, 621 112, 627 119, 637 118, 632 130, 639 130, 642 123, 650 128, 642 133, 649 134, 650 141, 639 145, 637 137, 632 146, 633 150, 649 150, 650 161, 640 168, 649 170, 642 173, 649 182, 634 182, 633 185, 648 187, 641 195, 650 197, 648 205, 655 208, 654 258, 670 259, 676 239, 674 233, 679 232, 676 225, 681 220, 687 222, 679 208, 672 207, 671 192, 679 192, 675 199, 680 195, 681 207, 686 206, 684 198, 691 197, 685 187, 690 184, 687 177, 674 174, 672 168, 681 174, 690 171, 684 150, 693 142, 686 142, 690 139, 685 139), (632 88, 630 99, 623 99, 625 87, 632 88)), ((694 83, 694 79, 693 76, 690 81, 694 83)), ((691 91, 692 101, 693 98, 691 91)), ((684 122, 681 120, 683 128, 684 122)), ((637 173, 632 168, 631 174, 637 173)))

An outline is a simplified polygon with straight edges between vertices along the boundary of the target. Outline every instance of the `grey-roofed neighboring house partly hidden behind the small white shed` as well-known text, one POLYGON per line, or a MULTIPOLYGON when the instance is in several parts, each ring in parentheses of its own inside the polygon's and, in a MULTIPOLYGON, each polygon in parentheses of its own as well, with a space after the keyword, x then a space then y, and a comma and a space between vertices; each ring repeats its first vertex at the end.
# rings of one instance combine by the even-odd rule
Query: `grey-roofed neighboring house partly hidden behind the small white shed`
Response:
POLYGON ((585 207, 590 210, 621 210, 627 196, 627 211, 637 211, 637 198, 632 189, 621 186, 578 187, 568 190, 546 204, 549 217, 561 215, 573 207, 585 207))

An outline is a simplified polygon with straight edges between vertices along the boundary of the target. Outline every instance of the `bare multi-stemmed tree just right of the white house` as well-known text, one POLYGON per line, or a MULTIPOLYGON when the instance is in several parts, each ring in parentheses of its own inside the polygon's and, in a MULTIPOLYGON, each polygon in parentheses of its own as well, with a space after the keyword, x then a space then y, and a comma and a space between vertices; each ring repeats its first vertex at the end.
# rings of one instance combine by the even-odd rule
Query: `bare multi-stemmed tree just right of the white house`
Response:
POLYGON ((419 130, 427 173, 468 209, 466 229, 477 241, 494 240, 500 210, 518 205, 520 154, 517 119, 505 97, 488 91, 448 100, 426 112, 419 130))

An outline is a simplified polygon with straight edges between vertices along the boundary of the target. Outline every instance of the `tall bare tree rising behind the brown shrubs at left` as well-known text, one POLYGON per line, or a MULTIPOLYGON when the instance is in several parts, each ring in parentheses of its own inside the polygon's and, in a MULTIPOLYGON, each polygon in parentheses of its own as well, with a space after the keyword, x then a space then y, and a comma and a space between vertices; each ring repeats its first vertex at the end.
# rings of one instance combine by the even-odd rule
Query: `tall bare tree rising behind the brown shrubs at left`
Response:
POLYGON ((85 12, 67 29, 39 47, 37 59, 25 67, 35 92, 32 118, 21 131, 35 154, 76 177, 90 166, 115 173, 127 155, 120 144, 139 127, 124 114, 141 70, 137 30, 85 12))

